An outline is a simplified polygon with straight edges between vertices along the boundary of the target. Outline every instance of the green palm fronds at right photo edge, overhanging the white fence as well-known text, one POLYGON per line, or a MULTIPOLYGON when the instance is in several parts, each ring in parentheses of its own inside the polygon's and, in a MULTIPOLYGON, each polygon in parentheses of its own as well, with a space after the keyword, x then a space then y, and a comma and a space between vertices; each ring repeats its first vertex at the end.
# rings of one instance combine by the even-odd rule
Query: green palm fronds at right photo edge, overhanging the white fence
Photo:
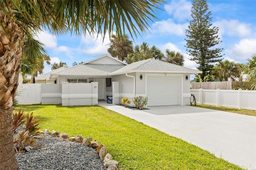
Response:
POLYGON ((247 59, 243 67, 244 74, 246 74, 246 82, 251 90, 256 90, 256 53, 251 55, 251 59, 247 59))

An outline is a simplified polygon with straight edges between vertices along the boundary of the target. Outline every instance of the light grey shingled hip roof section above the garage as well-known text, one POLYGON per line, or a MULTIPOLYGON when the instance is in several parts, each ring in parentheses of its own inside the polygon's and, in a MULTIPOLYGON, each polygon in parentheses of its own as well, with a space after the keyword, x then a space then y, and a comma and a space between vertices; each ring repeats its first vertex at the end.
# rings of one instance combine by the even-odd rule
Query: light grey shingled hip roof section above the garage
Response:
POLYGON ((118 75, 133 72, 148 72, 148 73, 202 73, 195 69, 186 68, 180 65, 159 61, 156 59, 146 59, 138 62, 131 63, 116 70, 109 75, 118 75))

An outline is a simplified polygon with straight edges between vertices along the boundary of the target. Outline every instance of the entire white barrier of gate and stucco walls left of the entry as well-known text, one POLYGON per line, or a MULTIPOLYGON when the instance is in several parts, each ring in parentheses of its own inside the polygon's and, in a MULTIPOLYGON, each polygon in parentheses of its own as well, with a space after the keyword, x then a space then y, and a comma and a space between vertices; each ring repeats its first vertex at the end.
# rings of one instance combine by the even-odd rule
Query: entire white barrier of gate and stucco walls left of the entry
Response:
POLYGON ((98 105, 98 82, 62 84, 19 84, 18 104, 98 105))

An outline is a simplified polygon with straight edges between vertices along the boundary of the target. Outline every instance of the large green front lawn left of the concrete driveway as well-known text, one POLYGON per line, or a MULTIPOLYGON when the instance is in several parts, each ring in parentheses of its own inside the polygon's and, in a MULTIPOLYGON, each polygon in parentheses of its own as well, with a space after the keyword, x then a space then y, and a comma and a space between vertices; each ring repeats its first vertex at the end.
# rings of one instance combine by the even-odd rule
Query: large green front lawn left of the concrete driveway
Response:
POLYGON ((100 106, 22 105, 15 111, 19 108, 42 119, 42 129, 66 132, 69 136, 80 134, 103 143, 114 160, 120 162, 120 170, 242 169, 184 140, 100 106))

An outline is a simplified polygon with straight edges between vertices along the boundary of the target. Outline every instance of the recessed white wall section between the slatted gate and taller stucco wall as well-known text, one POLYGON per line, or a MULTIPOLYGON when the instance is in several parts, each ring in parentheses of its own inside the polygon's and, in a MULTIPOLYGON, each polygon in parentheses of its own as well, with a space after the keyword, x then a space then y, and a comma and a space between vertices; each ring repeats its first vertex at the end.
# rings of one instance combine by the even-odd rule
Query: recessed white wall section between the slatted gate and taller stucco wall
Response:
POLYGON ((61 84, 41 84, 42 105, 62 103, 61 93, 61 84))

